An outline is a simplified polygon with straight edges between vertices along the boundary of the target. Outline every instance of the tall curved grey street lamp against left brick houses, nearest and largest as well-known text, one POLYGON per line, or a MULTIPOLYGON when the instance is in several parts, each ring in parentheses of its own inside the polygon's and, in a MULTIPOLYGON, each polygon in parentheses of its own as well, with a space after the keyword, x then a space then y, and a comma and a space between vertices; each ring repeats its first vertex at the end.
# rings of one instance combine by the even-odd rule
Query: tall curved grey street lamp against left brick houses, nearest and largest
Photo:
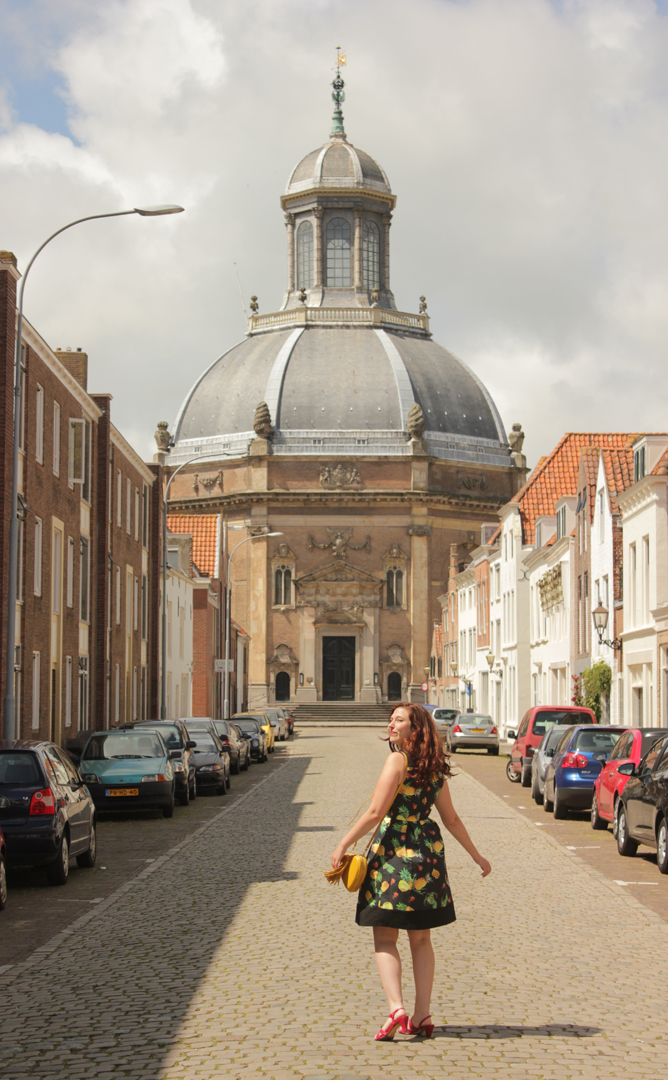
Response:
POLYGON ((28 274, 36 258, 46 244, 59 237, 62 232, 71 229, 74 225, 83 221, 95 221, 101 217, 125 217, 128 214, 139 214, 140 217, 162 217, 164 214, 180 214, 182 206, 135 206, 134 210, 119 210, 111 214, 88 214, 87 217, 78 217, 76 221, 64 225, 62 229, 56 229, 50 237, 40 244, 32 258, 29 260, 18 289, 18 318, 16 321, 16 359, 14 363, 14 447, 12 455, 12 503, 10 508, 10 557, 9 557, 9 588, 6 594, 6 656, 5 656, 5 687, 4 687, 4 710, 2 733, 4 740, 11 743, 14 739, 16 697, 14 694, 14 663, 16 651, 16 568, 18 566, 18 438, 21 434, 21 341, 23 332, 23 297, 28 280, 28 274))

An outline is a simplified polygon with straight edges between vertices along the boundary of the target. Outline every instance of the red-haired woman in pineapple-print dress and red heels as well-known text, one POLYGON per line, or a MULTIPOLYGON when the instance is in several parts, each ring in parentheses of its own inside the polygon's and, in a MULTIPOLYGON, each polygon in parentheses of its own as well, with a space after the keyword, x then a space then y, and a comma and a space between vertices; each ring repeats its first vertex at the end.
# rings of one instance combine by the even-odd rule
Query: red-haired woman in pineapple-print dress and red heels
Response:
POLYGON ((434 721, 421 705, 397 705, 387 726, 392 753, 383 766, 369 809, 343 837, 331 856, 336 869, 352 843, 377 828, 367 876, 359 890, 355 921, 373 927, 373 946, 390 1015, 376 1036, 403 1034, 432 1037, 430 1013, 434 983, 433 927, 454 922, 454 906, 438 825, 428 816, 433 806, 459 843, 482 870, 492 867, 476 849, 452 806, 451 770, 434 721), (401 994, 399 930, 408 931, 415 982, 415 1008, 409 1020, 401 994))

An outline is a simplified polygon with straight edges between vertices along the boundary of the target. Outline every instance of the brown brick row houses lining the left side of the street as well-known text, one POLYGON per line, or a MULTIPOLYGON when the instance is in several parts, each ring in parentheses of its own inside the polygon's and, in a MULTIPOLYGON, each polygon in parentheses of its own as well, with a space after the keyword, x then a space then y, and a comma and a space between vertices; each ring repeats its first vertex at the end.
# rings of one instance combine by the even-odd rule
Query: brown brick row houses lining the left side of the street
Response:
MULTIPOLYGON (((3 653, 18 279, 1 253, 3 653)), ((114 428, 111 396, 87 392, 84 352, 52 350, 24 319, 22 360, 16 735, 65 742, 156 715, 160 467, 114 428)), ((3 680, 2 665, 2 697, 3 680)))

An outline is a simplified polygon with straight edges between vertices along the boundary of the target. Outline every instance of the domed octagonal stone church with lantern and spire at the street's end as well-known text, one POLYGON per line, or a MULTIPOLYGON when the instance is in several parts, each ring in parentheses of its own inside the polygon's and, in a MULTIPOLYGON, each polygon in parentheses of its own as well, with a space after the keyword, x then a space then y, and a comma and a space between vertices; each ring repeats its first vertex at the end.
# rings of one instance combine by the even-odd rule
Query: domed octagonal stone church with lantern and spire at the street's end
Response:
POLYGON ((340 69, 329 139, 281 205, 287 289, 197 378, 178 413, 171 515, 229 526, 232 617, 250 708, 423 701, 451 545, 462 564, 524 482, 480 380, 397 310, 396 197, 347 140, 340 69), (194 459, 194 460, 191 460, 194 459), (186 464, 186 462, 190 462, 186 464), (278 535, 277 535, 278 534, 278 535))

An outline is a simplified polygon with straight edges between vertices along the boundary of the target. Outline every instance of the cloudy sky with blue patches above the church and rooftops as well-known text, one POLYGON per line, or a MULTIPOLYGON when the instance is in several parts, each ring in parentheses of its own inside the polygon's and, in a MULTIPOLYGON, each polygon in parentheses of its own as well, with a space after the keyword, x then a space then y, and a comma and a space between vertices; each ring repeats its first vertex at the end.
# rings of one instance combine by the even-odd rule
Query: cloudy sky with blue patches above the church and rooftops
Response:
POLYGON ((0 247, 148 460, 197 376, 281 306, 280 195, 328 137, 397 195, 397 307, 473 367, 529 464, 564 431, 668 430, 668 3, 0 0, 0 247))

